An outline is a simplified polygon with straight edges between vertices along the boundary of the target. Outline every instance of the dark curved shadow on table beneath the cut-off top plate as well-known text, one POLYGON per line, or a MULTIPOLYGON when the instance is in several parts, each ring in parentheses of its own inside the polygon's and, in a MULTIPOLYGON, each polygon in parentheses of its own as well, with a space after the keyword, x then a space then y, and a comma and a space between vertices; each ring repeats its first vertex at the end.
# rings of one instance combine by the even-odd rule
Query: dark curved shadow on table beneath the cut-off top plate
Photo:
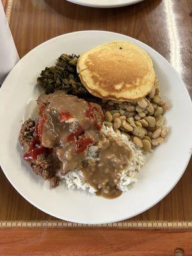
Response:
POLYGON ((104 20, 106 16, 108 19, 113 19, 114 15, 134 15, 134 13, 140 12, 141 17, 144 17, 148 13, 152 12, 162 0, 145 0, 141 3, 132 4, 129 6, 118 8, 92 8, 81 6, 79 4, 69 3, 66 0, 44 0, 52 10, 60 13, 72 20, 104 20))

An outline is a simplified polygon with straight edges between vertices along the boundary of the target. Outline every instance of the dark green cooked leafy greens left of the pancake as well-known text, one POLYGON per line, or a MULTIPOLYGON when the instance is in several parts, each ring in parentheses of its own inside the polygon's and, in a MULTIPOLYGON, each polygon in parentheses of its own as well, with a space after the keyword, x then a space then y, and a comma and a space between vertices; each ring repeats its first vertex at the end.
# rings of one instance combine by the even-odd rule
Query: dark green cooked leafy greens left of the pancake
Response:
POLYGON ((56 65, 42 70, 37 81, 45 89, 45 93, 53 93, 63 90, 66 93, 88 97, 90 93, 81 83, 77 74, 77 60, 75 54, 62 54, 56 61, 56 65))

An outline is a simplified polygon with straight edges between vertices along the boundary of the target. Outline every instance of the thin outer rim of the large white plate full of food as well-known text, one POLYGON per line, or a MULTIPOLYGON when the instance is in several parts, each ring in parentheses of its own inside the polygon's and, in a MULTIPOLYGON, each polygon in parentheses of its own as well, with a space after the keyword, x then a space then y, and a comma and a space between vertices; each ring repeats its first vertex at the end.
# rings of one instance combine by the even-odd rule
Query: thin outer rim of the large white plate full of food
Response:
MULTIPOLYGON (((54 38, 51 38, 51 39, 49 39, 49 40, 43 42, 43 43, 40 44, 40 45, 37 45, 35 48, 31 49, 31 51, 29 51, 26 55, 24 55, 24 56, 20 59, 20 61, 23 60, 24 58, 26 58, 26 57, 28 56, 28 54, 31 54, 31 52, 35 51, 35 50, 38 49, 39 47, 42 47, 42 45, 47 44, 47 42, 49 42, 49 41, 51 41, 51 40, 54 40, 54 39, 56 39, 56 38, 60 38, 60 37, 66 36, 66 35, 70 36, 70 35, 77 34, 77 33, 111 33, 111 34, 116 34, 116 35, 120 35, 120 36, 123 35, 123 36, 127 37, 127 39, 132 38, 131 36, 127 36, 127 35, 124 35, 124 34, 111 32, 111 31, 102 31, 102 30, 74 31, 74 32, 71 32, 71 33, 66 33, 66 34, 63 34, 63 35, 60 35, 60 36, 56 36, 56 37, 54 37, 54 38)), ((187 88, 186 88, 184 82, 183 82, 182 79, 180 78, 180 76, 179 76, 177 70, 175 70, 175 68, 174 68, 161 54, 159 54, 159 52, 157 52, 155 49, 153 49, 153 48, 150 47, 149 45, 147 45, 147 44, 141 42, 140 40, 138 40, 138 39, 136 39, 136 38, 132 38, 132 39, 134 39, 136 42, 139 42, 141 45, 145 45, 145 47, 147 47, 148 49, 150 49, 150 50, 152 50, 152 51, 155 51, 157 55, 161 56, 161 58, 163 58, 164 61, 166 61, 166 63, 170 66, 170 68, 172 68, 172 69, 174 70, 175 74, 176 74, 177 77, 179 78, 180 83, 182 84, 182 88, 183 88, 183 90, 186 91, 186 95, 188 95, 188 100, 191 102, 191 97, 189 96, 189 92, 188 92, 188 90, 187 90, 187 88)), ((19 65, 20 61, 15 65, 15 67, 16 67, 17 65, 19 65)), ((10 71, 10 74, 14 71, 14 68, 15 68, 15 67, 13 67, 13 69, 10 71)), ((10 76, 10 75, 8 74, 8 76, 10 76)), ((8 79, 8 76, 6 77, 6 79, 8 79)), ((1 86, 0 97, 1 97, 1 94, 2 94, 2 93, 1 93, 1 92, 2 92, 2 89, 4 88, 4 84, 6 84, 6 83, 5 83, 5 82, 6 82, 6 79, 4 80, 4 83, 3 83, 2 86, 1 86)), ((192 102, 191 102, 191 109, 192 109, 192 102)), ((192 141, 191 141, 191 147, 192 147, 192 141)), ((170 189, 168 189, 168 191, 167 191, 166 193, 164 193, 164 195, 161 196, 161 198, 159 198, 159 200, 156 200, 156 202, 154 202, 154 204, 151 204, 150 206, 146 207, 145 209, 142 209, 141 211, 138 211, 138 212, 136 212, 135 214, 132 214, 131 216, 129 216, 129 218, 132 218, 132 217, 134 217, 134 216, 136 216, 136 215, 138 215, 138 214, 141 214, 142 212, 147 211, 148 209, 150 209, 151 207, 153 207, 154 205, 156 205, 157 203, 159 203, 166 195, 168 195, 168 193, 170 193, 170 191, 172 191, 172 189, 173 189, 173 188, 175 187, 175 185, 179 182, 180 178, 182 177, 183 173, 185 172, 185 170, 186 170, 186 168, 187 168, 187 166, 188 166, 188 163, 189 163, 190 158, 191 158, 191 151, 189 152, 188 157, 186 157, 186 164, 185 164, 185 166, 184 166, 182 172, 180 172, 179 178, 177 179, 177 181, 175 182, 175 184, 173 184, 173 186, 171 186, 170 189)), ((1 161, 1 159, 0 159, 0 163, 1 163, 1 168, 2 168, 2 170, 3 170, 3 172, 4 172, 4 175, 6 175, 6 171, 5 171, 6 168, 4 168, 4 164, 3 164, 3 161, 1 161)), ((28 199, 28 196, 26 196, 26 195, 24 195, 22 192, 20 192, 20 189, 17 188, 17 186, 14 184, 14 181, 11 180, 11 178, 8 177, 8 175, 6 175, 6 178, 10 181, 10 183, 11 183, 12 186, 13 186, 13 188, 15 188, 15 189, 20 193, 20 195, 22 195, 30 204, 34 205, 36 208, 40 209, 40 210, 43 211, 43 212, 46 212, 47 214, 49 214, 49 215, 51 215, 51 216, 54 216, 54 217, 56 217, 56 218, 60 218, 61 220, 67 220, 67 221, 77 222, 77 220, 70 220, 70 218, 61 218, 60 215, 52 214, 52 213, 50 213, 49 211, 45 211, 44 209, 42 209, 42 207, 38 206, 37 204, 33 203, 30 199, 28 199)), ((78 222, 78 223, 83 223, 83 224, 106 224, 106 223, 110 223, 111 221, 117 222, 117 221, 123 221, 123 220, 126 220, 126 219, 127 219, 127 217, 124 216, 124 218, 116 218, 116 220, 97 221, 97 222, 81 221, 81 222, 78 222)))

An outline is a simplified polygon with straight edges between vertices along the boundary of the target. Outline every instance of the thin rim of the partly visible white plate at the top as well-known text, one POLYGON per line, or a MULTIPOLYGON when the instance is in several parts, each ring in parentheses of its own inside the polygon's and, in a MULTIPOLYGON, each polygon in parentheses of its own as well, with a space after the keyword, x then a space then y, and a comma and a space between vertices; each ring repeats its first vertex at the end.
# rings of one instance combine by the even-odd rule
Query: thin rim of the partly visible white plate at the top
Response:
POLYGON ((124 3, 124 1, 122 3, 114 3, 114 4, 92 4, 92 3, 86 3, 86 1, 84 2, 84 0, 67 0, 70 3, 74 3, 74 4, 79 4, 81 6, 86 6, 86 7, 93 7, 93 8, 117 8, 117 7, 123 7, 123 6, 129 6, 132 4, 137 4, 140 3, 142 1, 145 0, 131 0, 131 2, 127 2, 124 3))

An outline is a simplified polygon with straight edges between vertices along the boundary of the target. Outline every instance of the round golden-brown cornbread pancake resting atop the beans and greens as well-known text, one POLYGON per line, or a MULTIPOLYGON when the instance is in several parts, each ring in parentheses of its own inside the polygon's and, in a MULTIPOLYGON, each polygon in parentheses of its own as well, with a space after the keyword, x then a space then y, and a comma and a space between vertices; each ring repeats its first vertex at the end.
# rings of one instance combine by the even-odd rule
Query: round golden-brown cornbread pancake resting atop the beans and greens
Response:
POLYGON ((77 62, 77 72, 92 95, 119 101, 145 97, 156 78, 147 52, 125 41, 109 42, 84 52, 77 62))

